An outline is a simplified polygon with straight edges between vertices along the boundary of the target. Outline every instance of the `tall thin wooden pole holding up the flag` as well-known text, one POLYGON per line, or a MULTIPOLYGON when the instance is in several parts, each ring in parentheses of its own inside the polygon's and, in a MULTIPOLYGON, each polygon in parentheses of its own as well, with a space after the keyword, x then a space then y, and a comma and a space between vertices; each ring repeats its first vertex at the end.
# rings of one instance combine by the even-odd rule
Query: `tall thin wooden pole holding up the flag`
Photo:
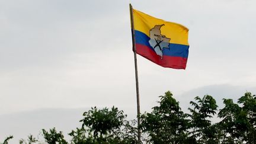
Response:
POLYGON ((133 11, 132 11, 132 4, 130 4, 130 19, 132 25, 132 41, 133 41, 133 55, 135 59, 135 79, 136 79, 136 94, 137 94, 137 139, 138 143, 141 142, 140 140, 140 103, 139 103, 139 80, 137 74, 137 55, 136 55, 136 45, 135 45, 135 29, 133 24, 133 11))

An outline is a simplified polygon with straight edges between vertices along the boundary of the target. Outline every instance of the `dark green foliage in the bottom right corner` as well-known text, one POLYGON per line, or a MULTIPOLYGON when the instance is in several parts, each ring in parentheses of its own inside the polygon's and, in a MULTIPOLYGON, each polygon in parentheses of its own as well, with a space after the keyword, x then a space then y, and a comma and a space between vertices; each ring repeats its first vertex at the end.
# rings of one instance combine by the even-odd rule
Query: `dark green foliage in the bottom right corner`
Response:
POLYGON ((222 143, 256 143, 256 97, 250 92, 234 104, 231 99, 223 99, 225 107, 219 111, 222 143))

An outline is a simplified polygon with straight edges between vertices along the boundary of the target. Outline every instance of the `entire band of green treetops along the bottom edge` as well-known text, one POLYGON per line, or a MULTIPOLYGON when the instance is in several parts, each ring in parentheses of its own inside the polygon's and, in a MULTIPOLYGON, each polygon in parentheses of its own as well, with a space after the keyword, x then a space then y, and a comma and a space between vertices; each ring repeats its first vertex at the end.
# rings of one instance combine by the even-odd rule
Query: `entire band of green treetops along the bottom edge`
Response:
MULTIPOLYGON (((178 101, 167 91, 159 96, 158 105, 151 113, 140 115, 142 140, 146 143, 256 143, 256 96, 246 92, 238 99, 223 99, 225 107, 219 110, 219 123, 212 123, 217 104, 210 95, 191 101, 190 114, 181 111, 178 101)), ((127 121, 126 114, 116 107, 91 108, 83 114, 81 128, 72 130, 71 144, 87 143, 142 143, 137 141, 137 121, 127 121)), ((9 136, 4 140, 7 144, 9 136)), ((55 127, 43 129, 43 137, 50 144, 66 144, 62 132, 55 127)), ((39 142, 32 135, 20 144, 39 142)))

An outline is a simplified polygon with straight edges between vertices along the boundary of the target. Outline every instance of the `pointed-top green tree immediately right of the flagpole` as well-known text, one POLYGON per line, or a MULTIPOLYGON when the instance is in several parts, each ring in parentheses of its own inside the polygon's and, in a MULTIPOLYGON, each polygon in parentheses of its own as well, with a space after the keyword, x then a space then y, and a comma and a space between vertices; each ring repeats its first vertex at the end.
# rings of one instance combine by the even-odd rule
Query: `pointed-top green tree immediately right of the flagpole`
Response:
POLYGON ((170 91, 161 95, 159 106, 153 107, 151 113, 142 114, 141 127, 148 133, 149 143, 186 143, 187 114, 181 111, 179 103, 170 91))

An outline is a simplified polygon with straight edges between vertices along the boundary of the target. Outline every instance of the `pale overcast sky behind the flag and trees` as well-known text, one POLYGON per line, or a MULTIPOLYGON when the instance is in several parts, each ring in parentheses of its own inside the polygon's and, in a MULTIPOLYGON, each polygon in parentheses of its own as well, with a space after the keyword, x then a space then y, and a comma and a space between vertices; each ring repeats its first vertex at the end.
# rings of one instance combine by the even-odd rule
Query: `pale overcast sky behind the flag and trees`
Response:
POLYGON ((129 3, 189 28, 185 71, 137 56, 142 113, 168 90, 184 111, 197 95, 222 105, 256 94, 254 0, 0 0, 0 140, 53 126, 68 133, 92 106, 136 117, 129 3))

